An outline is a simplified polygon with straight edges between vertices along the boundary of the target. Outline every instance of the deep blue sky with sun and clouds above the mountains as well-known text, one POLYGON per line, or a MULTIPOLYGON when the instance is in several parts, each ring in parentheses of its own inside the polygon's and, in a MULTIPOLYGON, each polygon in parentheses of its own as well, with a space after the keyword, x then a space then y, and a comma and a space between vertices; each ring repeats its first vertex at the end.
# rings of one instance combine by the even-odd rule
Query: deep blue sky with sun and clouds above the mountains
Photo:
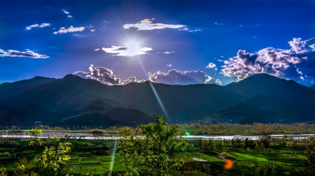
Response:
POLYGON ((315 1, 22 1, 0 6, 0 83, 315 84, 315 1))

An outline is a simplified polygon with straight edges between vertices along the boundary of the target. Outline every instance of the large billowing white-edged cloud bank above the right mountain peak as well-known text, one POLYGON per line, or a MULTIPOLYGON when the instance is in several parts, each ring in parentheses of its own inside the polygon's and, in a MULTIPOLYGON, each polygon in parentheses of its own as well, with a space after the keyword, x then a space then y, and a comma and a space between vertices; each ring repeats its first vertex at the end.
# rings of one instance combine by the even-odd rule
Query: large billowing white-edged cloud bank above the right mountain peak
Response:
POLYGON ((255 53, 239 50, 237 56, 224 61, 221 73, 228 77, 236 77, 237 81, 256 73, 268 73, 290 79, 314 79, 315 50, 312 46, 315 38, 307 41, 293 38, 293 41, 288 43, 291 47, 289 50, 274 47, 267 47, 255 53))

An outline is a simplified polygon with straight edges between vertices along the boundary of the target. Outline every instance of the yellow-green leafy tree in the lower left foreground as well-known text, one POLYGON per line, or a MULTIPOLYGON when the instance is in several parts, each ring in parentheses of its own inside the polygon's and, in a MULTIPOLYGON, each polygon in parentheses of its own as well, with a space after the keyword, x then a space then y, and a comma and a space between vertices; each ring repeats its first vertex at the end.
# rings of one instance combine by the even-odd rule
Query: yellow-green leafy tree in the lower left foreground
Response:
POLYGON ((45 147, 43 153, 36 156, 34 161, 42 168, 43 175, 61 175, 65 161, 70 160, 70 142, 59 142, 60 137, 52 135, 52 140, 59 143, 57 147, 45 147))

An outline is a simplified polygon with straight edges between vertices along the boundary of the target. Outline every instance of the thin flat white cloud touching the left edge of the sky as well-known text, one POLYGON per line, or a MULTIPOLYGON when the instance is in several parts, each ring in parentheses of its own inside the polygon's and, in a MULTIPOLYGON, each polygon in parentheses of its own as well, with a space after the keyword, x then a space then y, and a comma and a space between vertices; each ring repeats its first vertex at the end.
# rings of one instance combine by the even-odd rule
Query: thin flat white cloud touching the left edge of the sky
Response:
POLYGON ((26 49, 25 52, 19 52, 16 50, 8 50, 7 52, 0 49, 0 57, 31 57, 34 59, 47 59, 48 56, 45 54, 38 54, 29 49, 26 49))

